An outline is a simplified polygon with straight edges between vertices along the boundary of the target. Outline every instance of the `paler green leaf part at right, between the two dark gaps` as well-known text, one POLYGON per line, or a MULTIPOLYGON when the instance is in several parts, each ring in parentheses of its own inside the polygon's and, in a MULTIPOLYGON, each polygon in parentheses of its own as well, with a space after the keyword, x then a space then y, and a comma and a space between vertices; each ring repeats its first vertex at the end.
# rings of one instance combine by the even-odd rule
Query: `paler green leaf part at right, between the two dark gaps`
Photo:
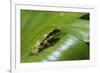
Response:
POLYGON ((89 21, 77 19, 69 25, 63 25, 64 32, 70 33, 80 40, 89 42, 89 21))

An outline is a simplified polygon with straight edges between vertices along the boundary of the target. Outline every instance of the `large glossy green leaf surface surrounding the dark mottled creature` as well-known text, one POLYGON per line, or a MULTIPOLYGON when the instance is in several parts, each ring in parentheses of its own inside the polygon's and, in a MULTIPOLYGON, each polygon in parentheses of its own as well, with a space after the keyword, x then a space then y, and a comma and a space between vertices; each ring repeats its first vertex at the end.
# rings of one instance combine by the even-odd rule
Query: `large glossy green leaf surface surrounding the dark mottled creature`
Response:
MULTIPOLYGON (((89 20, 87 13, 21 10, 21 62, 49 62, 89 59, 89 20), (60 40, 38 54, 30 49, 54 29, 61 30, 60 40)), ((34 48, 33 48, 34 49, 34 48)))

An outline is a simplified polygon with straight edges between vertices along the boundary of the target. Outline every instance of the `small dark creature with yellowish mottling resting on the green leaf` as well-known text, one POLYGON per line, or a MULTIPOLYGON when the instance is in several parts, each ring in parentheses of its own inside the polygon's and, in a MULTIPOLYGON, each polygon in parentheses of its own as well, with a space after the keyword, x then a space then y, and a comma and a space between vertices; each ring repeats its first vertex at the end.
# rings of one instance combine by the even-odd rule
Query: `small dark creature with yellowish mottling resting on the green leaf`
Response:
POLYGON ((42 41, 37 42, 35 46, 31 48, 31 53, 37 54, 41 52, 42 50, 55 45, 61 38, 60 36, 61 30, 59 29, 54 29, 50 33, 48 33, 42 41))

